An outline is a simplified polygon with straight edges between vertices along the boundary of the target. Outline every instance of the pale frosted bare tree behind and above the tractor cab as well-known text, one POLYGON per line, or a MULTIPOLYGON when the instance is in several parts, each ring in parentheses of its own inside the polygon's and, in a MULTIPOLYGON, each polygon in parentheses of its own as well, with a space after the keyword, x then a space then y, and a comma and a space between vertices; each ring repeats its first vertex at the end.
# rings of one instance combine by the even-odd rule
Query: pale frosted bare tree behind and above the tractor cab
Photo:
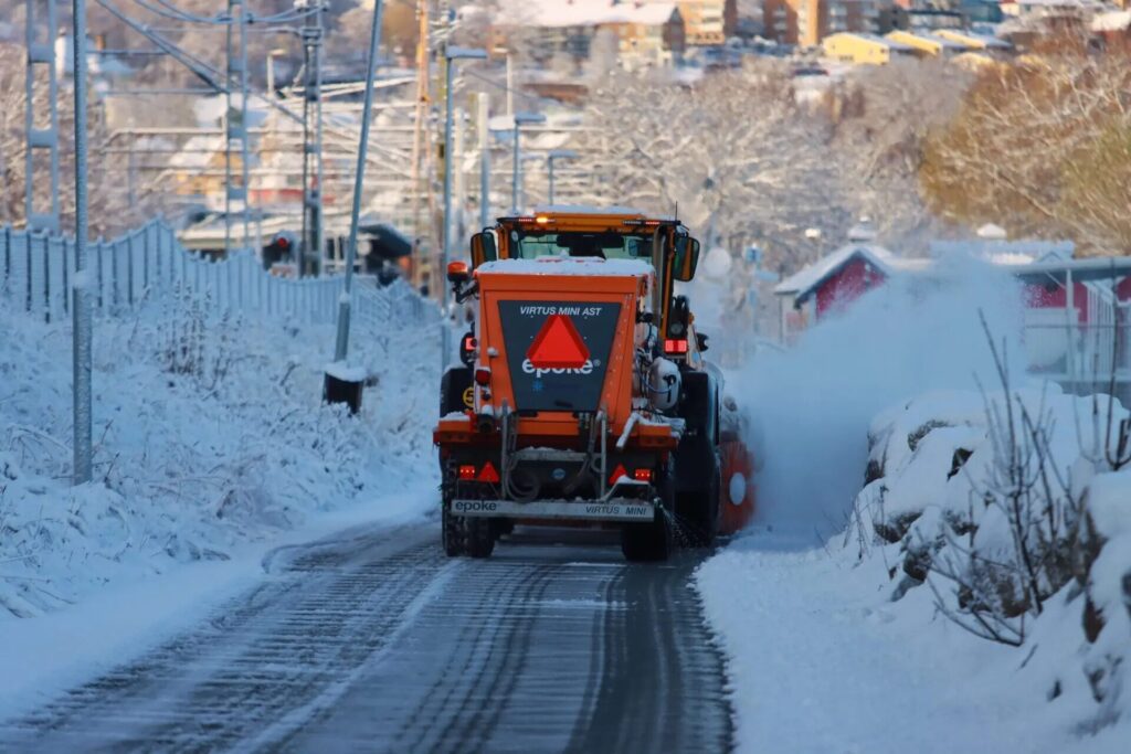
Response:
POLYGON ((774 63, 691 86, 616 73, 590 92, 581 164, 595 201, 673 213, 714 240, 759 242, 778 262, 804 232, 839 237, 851 219, 838 193, 827 121, 798 109, 774 63))

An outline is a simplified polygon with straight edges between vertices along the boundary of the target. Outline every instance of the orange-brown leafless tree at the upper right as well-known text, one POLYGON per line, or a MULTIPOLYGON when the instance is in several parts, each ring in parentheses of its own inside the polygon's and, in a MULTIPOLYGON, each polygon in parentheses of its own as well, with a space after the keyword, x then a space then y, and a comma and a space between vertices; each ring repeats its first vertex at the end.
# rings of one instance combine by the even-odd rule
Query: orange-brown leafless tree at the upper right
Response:
POLYGON ((1126 249, 1129 88, 1120 54, 1069 49, 988 69, 926 146, 931 206, 1018 234, 1067 234, 1086 251, 1126 249))

